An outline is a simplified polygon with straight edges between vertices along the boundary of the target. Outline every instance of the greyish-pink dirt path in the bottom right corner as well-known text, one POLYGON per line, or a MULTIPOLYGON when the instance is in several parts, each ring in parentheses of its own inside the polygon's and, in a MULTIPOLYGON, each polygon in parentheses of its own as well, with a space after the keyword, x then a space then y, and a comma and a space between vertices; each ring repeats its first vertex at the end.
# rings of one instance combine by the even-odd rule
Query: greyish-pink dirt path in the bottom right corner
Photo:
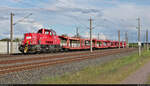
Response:
POLYGON ((150 74, 150 62, 131 74, 121 84, 145 84, 150 74))

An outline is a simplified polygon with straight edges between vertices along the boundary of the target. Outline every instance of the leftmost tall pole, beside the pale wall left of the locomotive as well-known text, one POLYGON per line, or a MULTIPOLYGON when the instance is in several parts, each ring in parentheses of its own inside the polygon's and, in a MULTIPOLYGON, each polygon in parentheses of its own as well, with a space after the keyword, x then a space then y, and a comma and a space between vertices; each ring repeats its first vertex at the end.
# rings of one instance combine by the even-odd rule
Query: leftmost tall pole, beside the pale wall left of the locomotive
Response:
POLYGON ((13 16, 14 14, 10 14, 10 54, 13 53, 13 16))

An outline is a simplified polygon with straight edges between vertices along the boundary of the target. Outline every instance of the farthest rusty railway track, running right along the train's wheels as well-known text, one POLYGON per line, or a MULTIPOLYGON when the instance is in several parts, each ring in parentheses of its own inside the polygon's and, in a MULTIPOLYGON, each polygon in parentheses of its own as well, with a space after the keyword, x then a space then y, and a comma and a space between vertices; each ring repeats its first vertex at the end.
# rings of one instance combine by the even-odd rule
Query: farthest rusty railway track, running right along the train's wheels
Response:
MULTIPOLYGON (((111 51, 114 49, 103 49, 103 50, 96 50, 93 51, 94 52, 103 52, 103 51, 111 51)), ((0 55, 0 61, 3 62, 5 60, 16 60, 16 59, 24 59, 24 58, 38 58, 38 57, 54 57, 54 56, 71 56, 71 55, 79 55, 79 54, 83 54, 83 53, 90 53, 89 51, 75 51, 75 52, 59 52, 59 53, 46 53, 46 54, 15 54, 15 55, 0 55)))

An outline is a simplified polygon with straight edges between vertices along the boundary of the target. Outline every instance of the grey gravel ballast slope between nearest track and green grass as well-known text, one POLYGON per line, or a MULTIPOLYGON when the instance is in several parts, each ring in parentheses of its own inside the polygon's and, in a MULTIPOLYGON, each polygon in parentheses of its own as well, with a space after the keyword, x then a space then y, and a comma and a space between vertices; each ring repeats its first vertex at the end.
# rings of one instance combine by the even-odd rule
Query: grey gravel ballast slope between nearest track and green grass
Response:
POLYGON ((125 53, 104 56, 95 59, 86 59, 82 61, 71 62, 67 64, 58 64, 53 66, 41 67, 32 70, 25 70, 20 72, 14 72, 0 76, 0 84, 35 84, 39 83, 43 77, 60 76, 65 73, 74 73, 81 69, 88 67, 89 65, 97 65, 105 62, 109 62, 113 59, 122 58, 124 56, 131 55, 137 51, 129 51, 125 53))

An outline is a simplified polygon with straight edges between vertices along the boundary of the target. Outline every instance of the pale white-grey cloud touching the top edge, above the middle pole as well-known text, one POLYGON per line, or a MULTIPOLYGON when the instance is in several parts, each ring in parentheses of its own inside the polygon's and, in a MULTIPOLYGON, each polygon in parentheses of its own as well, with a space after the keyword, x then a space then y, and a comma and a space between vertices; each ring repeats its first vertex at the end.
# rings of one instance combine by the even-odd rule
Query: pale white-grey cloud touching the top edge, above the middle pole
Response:
POLYGON ((78 5, 75 3, 75 0, 56 0, 52 5, 47 4, 45 10, 50 10, 60 13, 69 13, 69 12, 81 12, 83 14, 87 13, 97 13, 100 10, 94 7, 87 7, 84 5, 78 5))

